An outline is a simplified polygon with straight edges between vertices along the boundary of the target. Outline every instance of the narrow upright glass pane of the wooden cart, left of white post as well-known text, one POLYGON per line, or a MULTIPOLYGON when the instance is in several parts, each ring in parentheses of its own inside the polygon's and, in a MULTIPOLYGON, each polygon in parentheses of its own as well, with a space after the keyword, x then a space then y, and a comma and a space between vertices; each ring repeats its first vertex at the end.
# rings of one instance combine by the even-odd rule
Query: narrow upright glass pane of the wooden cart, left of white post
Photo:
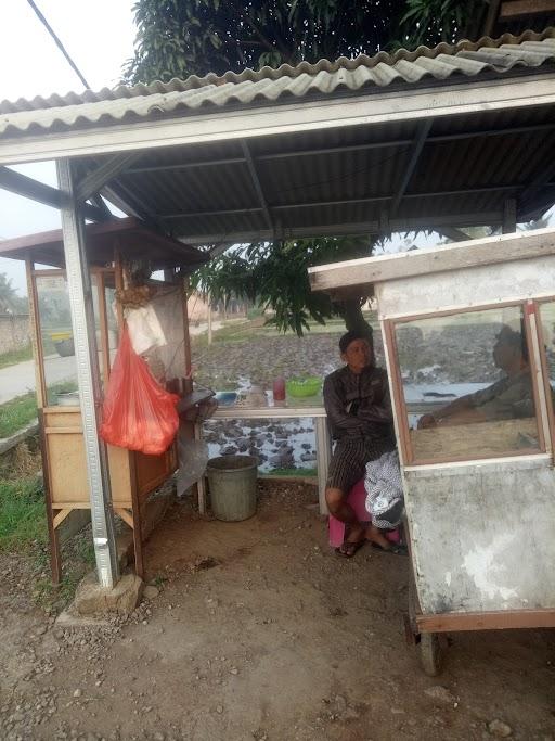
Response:
POLYGON ((37 276, 36 281, 47 404, 78 406, 77 366, 67 281, 62 273, 37 276))

